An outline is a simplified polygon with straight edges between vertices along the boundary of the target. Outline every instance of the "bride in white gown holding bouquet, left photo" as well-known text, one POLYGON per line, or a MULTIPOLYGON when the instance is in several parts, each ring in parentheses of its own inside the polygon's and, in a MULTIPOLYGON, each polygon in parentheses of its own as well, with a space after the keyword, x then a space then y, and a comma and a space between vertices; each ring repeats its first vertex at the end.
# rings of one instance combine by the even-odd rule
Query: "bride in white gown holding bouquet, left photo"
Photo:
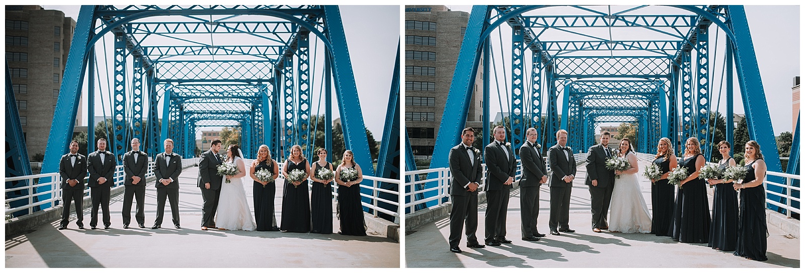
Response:
POLYGON ((256 224, 246 202, 246 189, 243 189, 241 177, 246 176, 246 166, 243 163, 243 153, 237 145, 229 145, 226 149, 229 162, 237 165, 239 173, 226 176, 229 183, 221 184, 221 198, 218 198, 218 211, 215 217, 219 230, 254 230, 256 224))

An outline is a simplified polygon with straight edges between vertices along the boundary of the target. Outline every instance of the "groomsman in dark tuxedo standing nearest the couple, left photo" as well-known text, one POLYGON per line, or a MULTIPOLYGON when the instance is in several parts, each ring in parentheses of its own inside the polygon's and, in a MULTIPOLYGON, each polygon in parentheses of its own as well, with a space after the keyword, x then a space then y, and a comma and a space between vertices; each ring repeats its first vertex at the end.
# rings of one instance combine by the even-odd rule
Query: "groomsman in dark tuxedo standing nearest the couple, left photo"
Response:
POLYGON ((154 176, 156 177, 156 221, 151 229, 162 227, 165 214, 165 198, 171 203, 173 225, 179 226, 179 174, 182 173, 182 157, 173 153, 173 140, 163 141, 165 153, 159 153, 154 159, 154 176))

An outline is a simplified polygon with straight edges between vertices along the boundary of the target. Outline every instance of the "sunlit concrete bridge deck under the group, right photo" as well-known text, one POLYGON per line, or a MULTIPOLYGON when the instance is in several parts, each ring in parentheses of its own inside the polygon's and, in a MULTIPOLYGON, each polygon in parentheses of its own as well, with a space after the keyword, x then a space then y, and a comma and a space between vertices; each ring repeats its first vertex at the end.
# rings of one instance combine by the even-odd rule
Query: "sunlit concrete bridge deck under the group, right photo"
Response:
MULTIPOLYGON (((645 165, 648 162, 641 161, 645 165)), ((641 167, 642 169, 642 167, 641 167)), ((589 209, 590 196, 584 165, 578 167, 573 181, 570 202, 570 228, 576 233, 548 234, 549 189, 541 187, 539 195, 539 232, 547 234, 539 242, 523 241, 520 232, 519 188, 511 192, 506 238, 513 241, 500 247, 465 247, 463 253, 449 251, 449 216, 437 218, 415 232, 405 236, 406 267, 800 267, 799 232, 791 236, 780 228, 769 225, 767 238, 769 260, 751 261, 734 256, 732 252, 715 251, 707 244, 674 242, 670 237, 654 234, 622 234, 604 231, 592 232, 589 209)), ((640 181, 643 198, 651 209, 651 184, 646 178, 640 181)), ((712 210, 712 196, 710 198, 712 210)), ((486 204, 478 208, 477 236, 483 243, 486 204)), ((776 214, 776 213, 773 213, 776 214)), ((784 215, 782 216, 785 217, 784 215)), ((796 220, 793 220, 796 221, 796 220)))

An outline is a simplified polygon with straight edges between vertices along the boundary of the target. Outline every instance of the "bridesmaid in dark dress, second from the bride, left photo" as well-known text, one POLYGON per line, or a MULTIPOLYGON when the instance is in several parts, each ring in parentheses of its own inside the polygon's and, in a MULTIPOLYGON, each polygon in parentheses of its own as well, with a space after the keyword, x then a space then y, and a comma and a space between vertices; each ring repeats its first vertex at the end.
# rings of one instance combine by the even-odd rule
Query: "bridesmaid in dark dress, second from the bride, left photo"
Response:
POLYGON ((300 169, 306 176, 302 181, 284 183, 283 186, 283 216, 279 230, 291 232, 310 232, 310 198, 308 197, 308 177, 310 177, 310 164, 302 156, 302 146, 291 147, 291 157, 285 161, 283 176, 288 177, 291 170, 300 169), (291 184, 295 185, 291 187, 291 184))

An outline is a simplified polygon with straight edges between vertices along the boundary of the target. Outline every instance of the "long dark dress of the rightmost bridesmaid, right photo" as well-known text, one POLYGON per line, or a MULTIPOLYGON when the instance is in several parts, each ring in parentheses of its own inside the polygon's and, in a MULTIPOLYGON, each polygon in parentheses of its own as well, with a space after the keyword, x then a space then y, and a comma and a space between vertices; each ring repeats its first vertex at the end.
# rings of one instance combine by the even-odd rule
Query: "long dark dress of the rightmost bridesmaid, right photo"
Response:
MULTIPOLYGON (((758 161, 758 160, 755 160, 758 161)), ((746 165, 744 183, 755 180, 752 161, 746 165)), ((741 189, 741 215, 738 217, 738 241, 734 255, 757 261, 766 259, 766 193, 763 185, 741 189)))

